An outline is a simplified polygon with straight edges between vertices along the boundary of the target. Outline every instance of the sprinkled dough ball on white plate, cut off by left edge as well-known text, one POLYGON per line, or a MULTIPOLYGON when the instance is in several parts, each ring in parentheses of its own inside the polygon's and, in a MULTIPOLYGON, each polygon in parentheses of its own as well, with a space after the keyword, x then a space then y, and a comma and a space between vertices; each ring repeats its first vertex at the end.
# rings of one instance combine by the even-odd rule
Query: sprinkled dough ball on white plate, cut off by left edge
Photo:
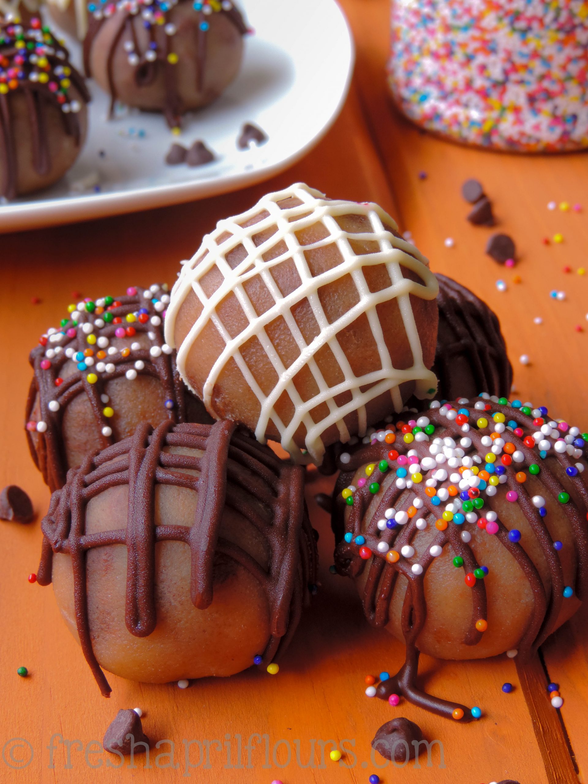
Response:
POLYGON ((82 149, 89 93, 38 16, 0 16, 0 196, 53 185, 82 149))

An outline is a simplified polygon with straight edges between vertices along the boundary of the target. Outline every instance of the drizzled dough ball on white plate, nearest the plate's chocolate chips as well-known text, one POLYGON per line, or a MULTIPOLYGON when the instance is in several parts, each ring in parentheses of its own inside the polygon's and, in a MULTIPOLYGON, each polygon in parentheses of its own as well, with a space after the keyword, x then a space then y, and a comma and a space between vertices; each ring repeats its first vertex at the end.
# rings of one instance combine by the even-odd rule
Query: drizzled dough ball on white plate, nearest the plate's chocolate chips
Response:
POLYGON ((231 0, 94 0, 85 72, 114 102, 162 111, 170 128, 218 98, 241 67, 248 27, 231 0))

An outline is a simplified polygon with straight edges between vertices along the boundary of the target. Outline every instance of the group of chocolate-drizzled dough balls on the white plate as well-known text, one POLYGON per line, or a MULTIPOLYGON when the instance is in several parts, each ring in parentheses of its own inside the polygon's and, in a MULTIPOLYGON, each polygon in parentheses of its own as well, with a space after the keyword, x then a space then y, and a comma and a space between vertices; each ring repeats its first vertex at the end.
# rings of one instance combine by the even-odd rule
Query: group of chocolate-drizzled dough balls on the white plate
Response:
MULTIPOLYGON (((0 8, 0 196, 52 185, 82 150, 90 96, 70 54, 27 2, 0 8)), ((216 100, 241 66, 249 32, 232 0, 48 0, 83 42, 85 75, 115 102, 159 111, 171 129, 216 100)))

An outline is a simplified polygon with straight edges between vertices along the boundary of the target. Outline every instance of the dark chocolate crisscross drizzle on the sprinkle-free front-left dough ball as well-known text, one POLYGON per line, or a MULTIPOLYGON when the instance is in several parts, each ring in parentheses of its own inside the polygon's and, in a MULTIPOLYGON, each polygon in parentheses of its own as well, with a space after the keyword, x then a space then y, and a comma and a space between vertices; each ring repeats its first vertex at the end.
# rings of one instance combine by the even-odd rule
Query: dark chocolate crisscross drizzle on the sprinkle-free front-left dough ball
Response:
POLYGON ((270 607, 270 639, 263 654, 274 659, 296 629, 308 586, 316 579, 317 553, 303 501, 304 469, 285 463, 234 423, 214 425, 162 423, 141 426, 134 436, 88 456, 71 470, 67 485, 53 493, 42 521, 43 547, 38 582, 51 583, 53 553, 71 556, 74 572, 76 626, 82 651, 100 691, 111 691, 93 652, 86 595, 85 553, 93 547, 126 544, 128 572, 125 624, 136 637, 150 634, 157 623, 154 599, 155 544, 183 542, 191 549, 191 599, 208 607, 213 596, 213 559, 223 554, 246 568, 263 586, 270 607), (180 446, 204 451, 201 457, 162 452, 180 446), (111 462, 114 461, 114 462, 111 462), (173 470, 169 470, 172 468, 173 470), (196 470, 198 476, 177 473, 196 470), (250 472, 253 474, 253 480, 250 472), (85 506, 108 488, 129 485, 126 530, 85 534, 85 506), (154 524, 154 492, 158 484, 197 491, 194 525, 154 524), (238 485, 249 495, 231 492, 238 485), (271 510, 271 521, 260 517, 256 503, 271 510), (252 522, 267 539, 270 564, 266 571, 238 545, 218 535, 224 506, 252 522))

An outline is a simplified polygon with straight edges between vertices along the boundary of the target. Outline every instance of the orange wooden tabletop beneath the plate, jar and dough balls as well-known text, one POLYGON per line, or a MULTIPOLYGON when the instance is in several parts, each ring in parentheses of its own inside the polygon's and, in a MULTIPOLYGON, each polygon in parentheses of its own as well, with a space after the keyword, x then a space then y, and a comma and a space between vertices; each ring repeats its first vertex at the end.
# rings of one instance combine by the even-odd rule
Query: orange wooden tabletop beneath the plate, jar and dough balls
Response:
MULTIPOLYGON (((463 281, 498 312, 514 364, 517 396, 545 403, 571 423, 588 425, 583 394, 588 334, 574 329, 586 325, 588 330, 588 275, 577 271, 583 266, 588 270, 588 156, 492 154, 421 134, 394 114, 387 100, 387 0, 343 0, 343 7, 358 44, 350 98, 325 140, 289 172, 265 185, 208 201, 0 238, 0 366, 5 368, 0 486, 16 483, 26 488, 39 515, 45 513, 49 492, 34 469, 23 433, 30 380, 27 354, 41 332, 58 323, 71 292, 100 296, 122 292, 132 283, 171 284, 180 259, 191 256, 216 220, 249 207, 266 190, 295 180, 335 197, 379 201, 403 230, 412 231, 434 270, 463 281), (426 180, 419 180, 420 171, 427 173, 426 180), (467 205, 459 187, 469 176, 485 184, 499 228, 517 241, 520 263, 514 270, 485 256, 488 229, 466 223, 467 205), (546 203, 551 200, 585 206, 583 212, 550 212, 546 203), (561 245, 542 244, 543 236, 553 237, 558 231, 564 235, 561 245), (451 249, 444 245, 448 237, 455 240, 451 249), (564 265, 572 272, 564 273, 564 265), (513 282, 514 275, 520 275, 521 283, 513 282), (495 288, 498 278, 506 281, 506 292, 495 288), (563 290, 566 299, 550 299, 551 289, 563 290), (42 303, 31 304, 34 296, 42 303), (543 325, 533 323, 535 316, 543 317, 543 325), (528 354, 530 365, 519 363, 521 354, 528 354)), ((110 784, 191 778, 220 784, 270 784, 273 779, 331 784, 367 782, 373 772, 386 784, 488 784, 509 778, 521 784, 568 784, 585 779, 586 610, 543 647, 549 677, 561 684, 561 717, 547 701, 542 680, 546 674, 539 662, 520 673, 506 657, 423 661, 426 688, 483 708, 485 716, 474 724, 454 726, 405 703, 391 709, 387 703, 368 700, 363 694, 365 674, 394 671, 403 646, 386 632, 371 629, 353 586, 328 572, 332 536, 327 515, 313 500, 314 493, 327 488, 328 482, 318 478, 308 485, 310 512, 321 534, 321 591, 278 676, 253 669, 229 680, 201 681, 186 691, 112 677, 110 700, 100 696, 78 644, 60 619, 52 591, 27 583, 38 563, 38 521, 28 526, 0 523, 0 781, 110 784), (20 665, 27 666, 30 677, 16 675, 20 665), (501 691, 504 681, 515 684, 510 695, 501 691), (149 768, 141 757, 135 760, 136 768, 129 768, 129 760, 120 770, 107 767, 108 755, 91 742, 100 741, 118 708, 135 706, 144 711, 147 735, 154 741, 171 740, 175 758, 159 757, 156 764, 157 755, 170 750, 164 744, 152 750, 149 768), (436 746, 430 767, 425 756, 420 768, 411 763, 379 771, 370 760, 369 742, 380 724, 398 715, 416 720, 430 741, 441 741, 443 760, 436 746), (245 743, 255 733, 268 735, 269 763, 262 737, 251 754, 252 767, 247 768, 245 743), (48 746, 56 734, 71 742, 71 753, 68 759, 66 745, 55 739, 50 767, 48 746), (228 768, 227 744, 231 764, 236 765, 238 735, 244 767, 228 768), (26 742, 20 750, 11 740, 17 738, 26 742), (307 764, 313 739, 315 767, 302 768, 296 741, 300 761, 307 764), (345 754, 340 764, 333 763, 328 742, 343 739, 354 743, 357 759, 345 754), (184 740, 211 742, 209 768, 186 768, 184 740), (223 746, 219 750, 212 741, 223 746), (326 748, 322 765, 319 741, 326 748), (287 761, 288 747, 292 760, 278 768, 287 761), (30 764, 19 767, 19 760, 27 757, 30 764), (440 767, 441 761, 445 767, 440 767), (169 767, 172 762, 176 768, 169 767)), ((197 750, 198 744, 192 744, 194 764, 197 750)), ((113 758, 111 764, 117 761, 113 758)), ((376 757, 376 762, 382 761, 376 757)))

